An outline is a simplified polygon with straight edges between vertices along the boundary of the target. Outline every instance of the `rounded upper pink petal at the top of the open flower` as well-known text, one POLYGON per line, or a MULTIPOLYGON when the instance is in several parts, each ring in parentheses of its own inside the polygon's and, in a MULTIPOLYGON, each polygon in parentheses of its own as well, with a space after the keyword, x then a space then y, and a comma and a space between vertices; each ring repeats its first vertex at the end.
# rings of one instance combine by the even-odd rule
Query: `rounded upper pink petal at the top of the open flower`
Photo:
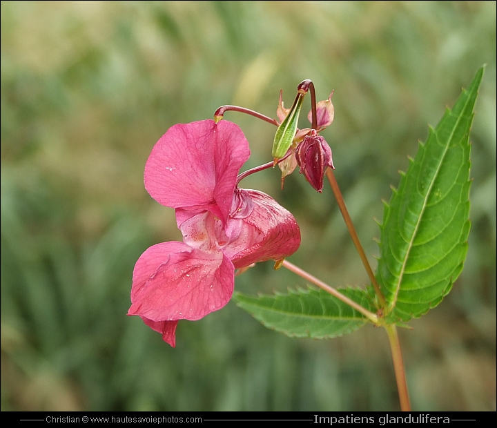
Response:
POLYGON ((230 121, 177 124, 150 153, 145 187, 159 204, 205 207, 226 220, 237 173, 249 155, 249 142, 230 121))

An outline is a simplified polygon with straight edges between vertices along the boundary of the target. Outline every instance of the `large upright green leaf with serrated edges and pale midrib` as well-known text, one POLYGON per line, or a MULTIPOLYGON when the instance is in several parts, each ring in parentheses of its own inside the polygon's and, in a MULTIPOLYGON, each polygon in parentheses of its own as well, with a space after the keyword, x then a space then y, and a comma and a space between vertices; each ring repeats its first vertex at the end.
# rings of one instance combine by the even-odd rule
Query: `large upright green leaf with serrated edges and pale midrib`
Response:
POLYGON ((469 234, 469 128, 483 68, 420 144, 385 204, 376 278, 387 314, 436 307, 462 271, 469 234))

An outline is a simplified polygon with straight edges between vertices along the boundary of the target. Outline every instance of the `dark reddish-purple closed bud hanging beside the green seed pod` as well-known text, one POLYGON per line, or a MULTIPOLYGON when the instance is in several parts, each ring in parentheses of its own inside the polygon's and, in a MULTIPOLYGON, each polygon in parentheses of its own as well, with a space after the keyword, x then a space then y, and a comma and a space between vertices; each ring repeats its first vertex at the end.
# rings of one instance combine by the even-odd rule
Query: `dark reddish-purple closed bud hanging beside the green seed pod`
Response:
POLYGON ((299 144, 295 158, 300 166, 300 173, 319 193, 322 192, 326 168, 335 169, 331 157, 331 148, 326 140, 313 129, 299 144))

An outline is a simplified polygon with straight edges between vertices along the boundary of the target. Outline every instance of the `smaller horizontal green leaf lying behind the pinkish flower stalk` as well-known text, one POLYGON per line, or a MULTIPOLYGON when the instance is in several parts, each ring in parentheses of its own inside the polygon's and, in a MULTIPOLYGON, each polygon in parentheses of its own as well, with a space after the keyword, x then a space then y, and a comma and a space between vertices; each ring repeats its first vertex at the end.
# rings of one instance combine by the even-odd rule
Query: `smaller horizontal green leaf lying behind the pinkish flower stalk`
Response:
MULTIPOLYGON (((361 289, 338 290, 369 308, 371 293, 361 289)), ((351 333, 368 322, 355 309, 324 290, 289 291, 283 295, 251 296, 235 293, 236 304, 266 327, 296 338, 335 338, 351 333)), ((375 309, 370 309, 375 311, 375 309)))

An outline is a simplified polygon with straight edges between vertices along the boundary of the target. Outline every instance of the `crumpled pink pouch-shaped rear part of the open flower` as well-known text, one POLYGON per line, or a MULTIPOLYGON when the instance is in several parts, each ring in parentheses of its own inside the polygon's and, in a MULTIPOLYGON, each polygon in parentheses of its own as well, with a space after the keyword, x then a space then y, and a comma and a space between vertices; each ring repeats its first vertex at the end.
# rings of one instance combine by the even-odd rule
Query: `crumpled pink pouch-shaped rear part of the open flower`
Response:
POLYGON ((242 220, 239 237, 223 249, 236 268, 287 257, 300 246, 300 228, 289 211, 258 191, 246 191, 253 211, 242 220))

